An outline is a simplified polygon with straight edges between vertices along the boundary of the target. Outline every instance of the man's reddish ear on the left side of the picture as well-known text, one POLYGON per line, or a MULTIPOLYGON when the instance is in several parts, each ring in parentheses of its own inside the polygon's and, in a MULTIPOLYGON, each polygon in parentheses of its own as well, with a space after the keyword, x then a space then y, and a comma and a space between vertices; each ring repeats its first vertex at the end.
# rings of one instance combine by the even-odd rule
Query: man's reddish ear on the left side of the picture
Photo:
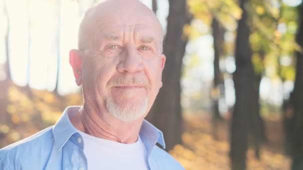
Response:
POLYGON ((76 84, 82 85, 82 58, 79 50, 70 50, 69 64, 73 68, 76 84))

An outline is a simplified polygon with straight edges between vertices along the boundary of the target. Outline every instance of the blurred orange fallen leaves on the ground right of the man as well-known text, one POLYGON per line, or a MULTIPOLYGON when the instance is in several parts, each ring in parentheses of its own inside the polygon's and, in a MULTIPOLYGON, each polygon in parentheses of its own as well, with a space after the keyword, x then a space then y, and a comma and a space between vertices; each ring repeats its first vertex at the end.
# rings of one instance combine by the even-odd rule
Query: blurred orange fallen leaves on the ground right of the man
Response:
MULTIPOLYGON (((266 120, 269 121, 269 120, 266 120)), ((253 149, 247 153, 247 170, 289 170, 291 160, 281 154, 281 151, 271 149, 275 141, 282 138, 282 127, 279 118, 268 123, 270 129, 276 129, 272 141, 261 151, 261 160, 255 158, 253 149)), ((210 117, 186 115, 185 133, 182 136, 183 145, 176 145, 169 153, 179 161, 186 170, 229 170, 228 122, 218 126, 220 139, 214 139, 210 117)), ((281 143, 280 143, 281 145, 281 143)), ((280 146, 281 147, 281 146, 280 146)))

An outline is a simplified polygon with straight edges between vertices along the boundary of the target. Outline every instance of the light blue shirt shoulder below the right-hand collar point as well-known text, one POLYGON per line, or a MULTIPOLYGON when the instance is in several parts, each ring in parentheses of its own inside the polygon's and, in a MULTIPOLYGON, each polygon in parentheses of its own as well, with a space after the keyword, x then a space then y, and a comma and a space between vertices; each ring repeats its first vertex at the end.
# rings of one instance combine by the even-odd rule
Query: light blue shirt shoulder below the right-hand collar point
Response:
POLYGON ((166 167, 171 170, 184 170, 180 163, 178 163, 171 155, 158 146, 154 146, 152 156, 157 165, 159 165, 161 168, 166 167))

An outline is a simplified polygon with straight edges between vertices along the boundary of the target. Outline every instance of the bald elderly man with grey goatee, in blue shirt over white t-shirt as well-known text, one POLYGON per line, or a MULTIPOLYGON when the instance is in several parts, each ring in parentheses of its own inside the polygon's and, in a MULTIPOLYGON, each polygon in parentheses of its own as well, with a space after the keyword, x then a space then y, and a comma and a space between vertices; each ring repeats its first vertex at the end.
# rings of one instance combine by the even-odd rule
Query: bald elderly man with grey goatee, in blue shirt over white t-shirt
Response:
POLYGON ((144 120, 162 85, 163 32, 138 0, 89 9, 70 51, 84 104, 58 122, 0 150, 0 170, 183 170, 162 133, 144 120))

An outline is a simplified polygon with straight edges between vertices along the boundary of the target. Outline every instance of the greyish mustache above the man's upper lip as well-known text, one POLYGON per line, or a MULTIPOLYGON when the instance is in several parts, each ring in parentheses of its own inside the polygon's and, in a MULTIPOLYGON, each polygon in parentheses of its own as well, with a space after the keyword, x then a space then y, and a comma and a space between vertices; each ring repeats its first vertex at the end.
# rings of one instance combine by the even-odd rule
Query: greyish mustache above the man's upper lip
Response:
POLYGON ((112 78, 108 86, 120 86, 120 85, 141 85, 150 87, 149 80, 143 75, 120 75, 112 78))

